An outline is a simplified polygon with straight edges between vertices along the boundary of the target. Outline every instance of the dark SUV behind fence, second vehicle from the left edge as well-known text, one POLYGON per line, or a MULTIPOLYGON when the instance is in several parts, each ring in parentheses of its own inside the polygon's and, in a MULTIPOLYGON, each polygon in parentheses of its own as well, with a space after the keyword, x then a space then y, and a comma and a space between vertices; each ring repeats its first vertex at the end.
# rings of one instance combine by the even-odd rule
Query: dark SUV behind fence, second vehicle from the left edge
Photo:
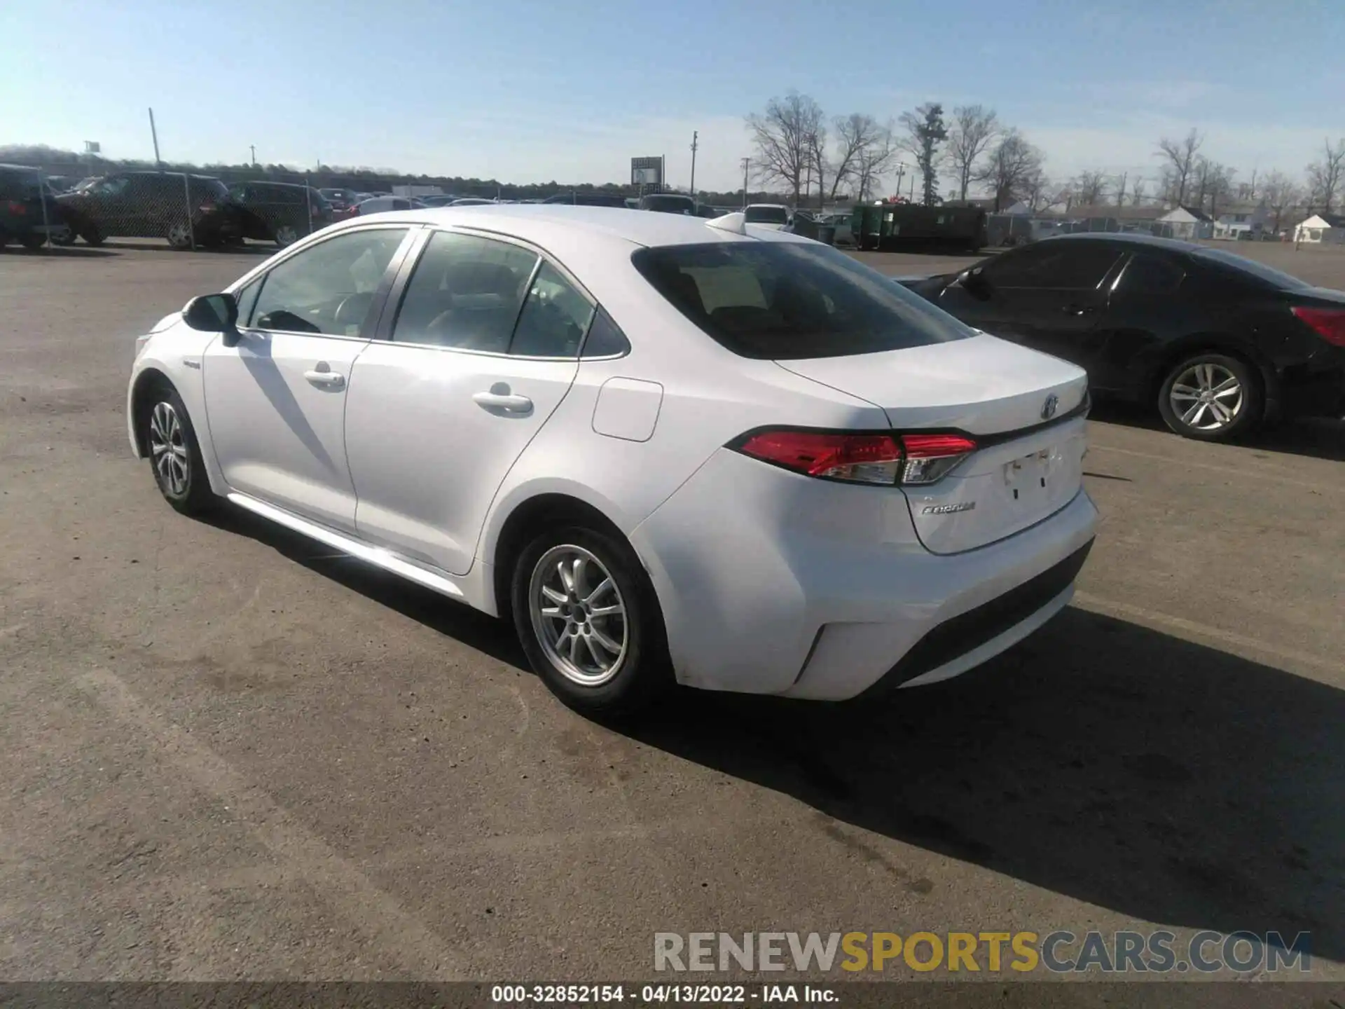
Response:
POLYGON ((167 238, 174 249, 190 249, 192 239, 218 245, 242 234, 242 215, 229 188, 207 175, 118 172, 56 199, 74 233, 89 245, 121 235, 167 238))

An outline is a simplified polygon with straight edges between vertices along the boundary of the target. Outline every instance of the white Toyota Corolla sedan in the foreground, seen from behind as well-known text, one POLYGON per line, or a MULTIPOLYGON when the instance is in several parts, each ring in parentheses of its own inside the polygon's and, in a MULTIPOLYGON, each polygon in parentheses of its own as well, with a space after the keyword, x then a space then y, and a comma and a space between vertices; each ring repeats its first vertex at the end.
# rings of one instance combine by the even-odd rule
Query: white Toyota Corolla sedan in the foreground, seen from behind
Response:
POLYGON ((514 622, 566 704, 850 698, 958 675, 1071 599, 1081 370, 834 249, 605 207, 323 229, 136 342, 130 444, 514 622))

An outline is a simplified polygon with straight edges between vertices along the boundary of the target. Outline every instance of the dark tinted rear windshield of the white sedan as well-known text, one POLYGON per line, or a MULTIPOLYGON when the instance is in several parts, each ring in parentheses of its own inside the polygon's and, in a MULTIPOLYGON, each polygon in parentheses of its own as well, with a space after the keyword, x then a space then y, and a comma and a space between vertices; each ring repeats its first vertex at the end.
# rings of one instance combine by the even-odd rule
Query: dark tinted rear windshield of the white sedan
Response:
POLYGON ((876 354, 974 331, 894 280, 826 245, 716 242, 640 249, 640 274, 744 358, 876 354))

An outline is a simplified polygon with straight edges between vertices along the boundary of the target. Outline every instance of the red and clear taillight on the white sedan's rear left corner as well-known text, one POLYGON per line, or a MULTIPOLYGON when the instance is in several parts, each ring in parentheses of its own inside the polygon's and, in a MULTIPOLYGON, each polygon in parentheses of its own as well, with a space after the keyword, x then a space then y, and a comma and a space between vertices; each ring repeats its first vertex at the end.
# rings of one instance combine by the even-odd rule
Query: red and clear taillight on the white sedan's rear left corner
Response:
POLYGON ((892 487, 933 483, 976 445, 960 435, 761 431, 738 439, 730 448, 808 476, 892 487))

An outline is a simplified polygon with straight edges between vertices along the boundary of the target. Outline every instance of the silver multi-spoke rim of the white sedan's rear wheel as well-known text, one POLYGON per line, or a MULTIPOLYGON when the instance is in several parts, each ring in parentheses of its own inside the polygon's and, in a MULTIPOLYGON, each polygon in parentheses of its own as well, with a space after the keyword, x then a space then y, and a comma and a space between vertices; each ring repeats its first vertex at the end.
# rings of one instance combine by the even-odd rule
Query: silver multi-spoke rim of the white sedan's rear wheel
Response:
POLYGON ((542 652, 566 679, 600 686, 621 670, 631 640, 625 600, 593 553, 572 544, 543 553, 527 601, 542 652))

